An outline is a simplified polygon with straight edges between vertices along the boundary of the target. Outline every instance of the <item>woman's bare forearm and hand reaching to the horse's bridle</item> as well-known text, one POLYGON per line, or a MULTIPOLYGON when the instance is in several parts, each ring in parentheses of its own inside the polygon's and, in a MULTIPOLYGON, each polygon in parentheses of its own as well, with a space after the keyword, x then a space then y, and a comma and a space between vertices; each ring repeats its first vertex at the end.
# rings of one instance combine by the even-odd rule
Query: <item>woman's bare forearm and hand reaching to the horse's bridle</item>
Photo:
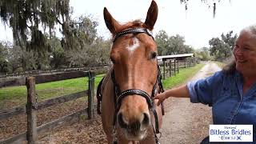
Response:
POLYGON ((186 85, 178 86, 170 90, 166 90, 165 92, 158 94, 154 97, 154 99, 158 99, 158 106, 161 102, 163 102, 166 98, 176 97, 176 98, 190 98, 190 93, 186 85))

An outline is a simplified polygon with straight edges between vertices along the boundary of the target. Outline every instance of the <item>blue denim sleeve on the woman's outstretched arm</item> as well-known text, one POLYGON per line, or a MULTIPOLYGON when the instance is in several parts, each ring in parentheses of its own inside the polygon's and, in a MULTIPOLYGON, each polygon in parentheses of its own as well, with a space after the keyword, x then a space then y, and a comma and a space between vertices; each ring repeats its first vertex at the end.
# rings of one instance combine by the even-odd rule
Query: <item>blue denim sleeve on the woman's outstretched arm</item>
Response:
POLYGON ((222 73, 217 72, 208 78, 188 82, 186 86, 190 93, 190 102, 211 106, 214 95, 222 86, 222 73))

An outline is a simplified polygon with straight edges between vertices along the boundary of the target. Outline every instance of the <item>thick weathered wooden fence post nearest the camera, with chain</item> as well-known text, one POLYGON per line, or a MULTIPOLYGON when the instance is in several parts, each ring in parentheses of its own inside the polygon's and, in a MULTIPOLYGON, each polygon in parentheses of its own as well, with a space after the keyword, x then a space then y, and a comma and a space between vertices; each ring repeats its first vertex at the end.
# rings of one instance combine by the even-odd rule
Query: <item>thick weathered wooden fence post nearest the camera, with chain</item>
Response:
POLYGON ((34 77, 26 78, 26 89, 27 89, 27 104, 26 104, 26 114, 27 114, 27 132, 26 138, 29 144, 34 144, 37 142, 37 98, 35 95, 35 80, 34 77))

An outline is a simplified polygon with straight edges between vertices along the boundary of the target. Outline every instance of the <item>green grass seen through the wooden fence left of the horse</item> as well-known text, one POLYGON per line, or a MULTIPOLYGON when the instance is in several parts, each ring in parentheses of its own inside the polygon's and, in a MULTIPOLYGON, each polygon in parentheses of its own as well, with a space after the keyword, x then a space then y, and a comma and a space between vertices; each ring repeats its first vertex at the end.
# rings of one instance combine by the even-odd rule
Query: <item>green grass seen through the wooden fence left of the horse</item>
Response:
MULTIPOLYGON (((95 78, 95 86, 104 75, 95 78)), ((66 94, 73 94, 88 89, 88 78, 74 78, 58 82, 47 82, 36 85, 38 101, 54 98, 66 94)), ((9 106, 18 106, 26 103, 26 86, 14 86, 0 89, 0 109, 9 106)))

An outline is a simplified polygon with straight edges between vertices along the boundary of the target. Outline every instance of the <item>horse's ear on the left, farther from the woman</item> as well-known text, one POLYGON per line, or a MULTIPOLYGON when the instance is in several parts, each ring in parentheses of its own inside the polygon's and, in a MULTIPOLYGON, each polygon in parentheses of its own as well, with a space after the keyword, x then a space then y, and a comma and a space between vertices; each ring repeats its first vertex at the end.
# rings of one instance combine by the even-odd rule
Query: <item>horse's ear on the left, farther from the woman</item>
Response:
POLYGON ((116 34, 118 31, 119 23, 111 16, 110 12, 104 7, 104 20, 106 27, 110 30, 112 34, 116 34))

